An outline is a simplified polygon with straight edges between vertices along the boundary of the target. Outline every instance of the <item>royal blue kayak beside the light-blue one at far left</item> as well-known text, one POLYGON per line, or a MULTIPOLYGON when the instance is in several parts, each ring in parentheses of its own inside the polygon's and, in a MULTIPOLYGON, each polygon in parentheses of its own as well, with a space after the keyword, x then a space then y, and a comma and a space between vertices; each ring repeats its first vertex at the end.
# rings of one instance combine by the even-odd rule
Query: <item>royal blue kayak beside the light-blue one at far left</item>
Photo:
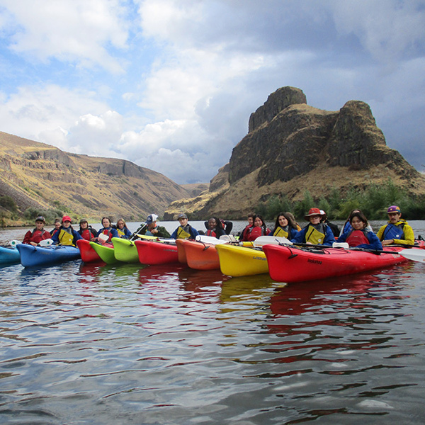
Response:
POLYGON ((81 258, 77 246, 33 246, 29 244, 18 244, 16 248, 21 254, 21 264, 24 267, 50 266, 50 264, 81 258))

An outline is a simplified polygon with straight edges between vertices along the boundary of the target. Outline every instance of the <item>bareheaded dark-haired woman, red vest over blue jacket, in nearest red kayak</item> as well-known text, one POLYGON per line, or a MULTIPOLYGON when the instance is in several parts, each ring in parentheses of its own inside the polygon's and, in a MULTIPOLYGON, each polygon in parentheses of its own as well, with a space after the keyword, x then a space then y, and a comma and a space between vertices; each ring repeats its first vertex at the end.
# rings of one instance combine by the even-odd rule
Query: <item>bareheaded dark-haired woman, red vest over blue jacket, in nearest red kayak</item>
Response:
POLYGON ((341 234, 336 242, 346 242, 351 247, 382 250, 378 236, 368 230, 368 220, 363 212, 353 212, 350 224, 352 229, 341 234))

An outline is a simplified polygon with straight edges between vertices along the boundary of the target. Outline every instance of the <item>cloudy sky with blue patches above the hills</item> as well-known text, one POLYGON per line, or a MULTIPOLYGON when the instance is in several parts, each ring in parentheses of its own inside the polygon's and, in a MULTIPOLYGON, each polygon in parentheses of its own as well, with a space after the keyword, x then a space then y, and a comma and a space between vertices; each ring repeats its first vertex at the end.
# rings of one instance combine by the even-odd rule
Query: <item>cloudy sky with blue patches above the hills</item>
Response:
POLYGON ((208 183, 283 86, 425 171, 425 0, 0 0, 0 131, 66 152, 208 183))

